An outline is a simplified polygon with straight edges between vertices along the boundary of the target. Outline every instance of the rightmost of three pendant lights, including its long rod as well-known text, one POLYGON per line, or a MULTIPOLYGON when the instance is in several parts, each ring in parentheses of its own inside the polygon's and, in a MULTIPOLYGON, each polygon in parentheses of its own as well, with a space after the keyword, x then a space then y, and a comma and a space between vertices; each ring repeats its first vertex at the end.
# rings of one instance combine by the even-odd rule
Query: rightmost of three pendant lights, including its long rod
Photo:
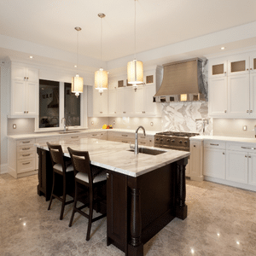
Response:
POLYGON ((129 84, 133 84, 135 90, 137 90, 137 84, 143 84, 143 61, 137 61, 136 59, 136 1, 134 0, 134 51, 135 58, 133 61, 127 64, 127 79, 129 84))

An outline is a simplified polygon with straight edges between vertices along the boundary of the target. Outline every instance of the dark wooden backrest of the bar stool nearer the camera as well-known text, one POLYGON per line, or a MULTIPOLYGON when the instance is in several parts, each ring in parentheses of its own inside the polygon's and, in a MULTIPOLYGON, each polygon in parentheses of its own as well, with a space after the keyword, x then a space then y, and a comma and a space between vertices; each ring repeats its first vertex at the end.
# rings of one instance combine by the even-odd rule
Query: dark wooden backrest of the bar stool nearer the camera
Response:
POLYGON ((77 151, 69 147, 67 149, 72 160, 74 175, 76 176, 78 172, 86 173, 88 175, 89 184, 92 185, 93 177, 88 151, 77 151))

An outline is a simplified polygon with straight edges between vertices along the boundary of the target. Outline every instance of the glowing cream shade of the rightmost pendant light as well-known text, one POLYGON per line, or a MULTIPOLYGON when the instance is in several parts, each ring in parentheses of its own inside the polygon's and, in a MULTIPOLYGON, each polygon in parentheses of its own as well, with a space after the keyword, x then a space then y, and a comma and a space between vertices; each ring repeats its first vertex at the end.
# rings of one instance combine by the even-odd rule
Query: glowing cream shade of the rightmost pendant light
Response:
POLYGON ((128 62, 127 78, 129 84, 143 84, 143 61, 128 62))

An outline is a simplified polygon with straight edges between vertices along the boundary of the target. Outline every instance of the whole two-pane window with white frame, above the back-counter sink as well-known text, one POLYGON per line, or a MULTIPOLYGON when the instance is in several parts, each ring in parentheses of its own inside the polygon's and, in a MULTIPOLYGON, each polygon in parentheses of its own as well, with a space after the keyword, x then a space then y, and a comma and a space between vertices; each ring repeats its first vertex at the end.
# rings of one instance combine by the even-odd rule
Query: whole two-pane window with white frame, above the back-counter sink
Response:
POLYGON ((66 119, 66 125, 72 128, 86 127, 87 88, 84 87, 84 93, 77 97, 71 92, 70 83, 39 79, 39 116, 35 130, 63 129, 63 118, 66 119))

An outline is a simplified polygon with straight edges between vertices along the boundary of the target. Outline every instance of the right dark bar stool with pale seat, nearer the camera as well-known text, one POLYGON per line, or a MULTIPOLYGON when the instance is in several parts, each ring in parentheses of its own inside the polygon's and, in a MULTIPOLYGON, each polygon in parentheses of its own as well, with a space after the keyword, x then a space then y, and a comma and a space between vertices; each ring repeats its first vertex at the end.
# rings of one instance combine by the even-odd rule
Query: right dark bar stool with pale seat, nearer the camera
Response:
POLYGON ((102 195, 104 195, 104 191, 102 191, 102 189, 106 189, 108 170, 96 166, 91 166, 88 151, 76 151, 71 148, 67 149, 73 163, 75 175, 75 197, 69 226, 72 226, 75 212, 79 212, 81 215, 88 218, 89 223, 87 228, 86 241, 89 241, 91 224, 96 220, 107 216, 107 213, 103 213, 96 218, 92 218, 93 207, 96 205, 96 203, 104 200, 104 196, 102 198, 102 195), (79 195, 79 187, 81 187, 81 185, 89 190, 89 202, 87 201, 81 207, 77 207, 77 202, 81 201, 82 199, 79 195), (84 207, 89 207, 89 214, 82 211, 84 207))

